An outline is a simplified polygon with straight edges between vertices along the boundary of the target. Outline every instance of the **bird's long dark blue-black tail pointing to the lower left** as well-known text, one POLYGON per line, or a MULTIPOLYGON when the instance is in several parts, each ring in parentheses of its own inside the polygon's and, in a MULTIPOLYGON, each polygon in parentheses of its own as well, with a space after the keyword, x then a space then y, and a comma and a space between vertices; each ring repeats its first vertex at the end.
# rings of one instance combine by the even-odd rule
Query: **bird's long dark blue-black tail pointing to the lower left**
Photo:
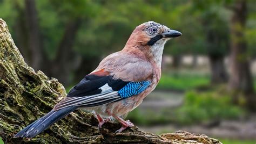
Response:
POLYGON ((77 106, 69 106, 57 111, 51 110, 45 116, 43 116, 42 118, 39 118, 29 126, 22 129, 22 131, 18 132, 14 136, 14 138, 17 138, 17 137, 33 138, 39 133, 43 132, 44 129, 48 128, 49 126, 54 124, 56 121, 64 118, 66 115, 68 115, 69 113, 71 113, 76 109, 77 109, 77 106))

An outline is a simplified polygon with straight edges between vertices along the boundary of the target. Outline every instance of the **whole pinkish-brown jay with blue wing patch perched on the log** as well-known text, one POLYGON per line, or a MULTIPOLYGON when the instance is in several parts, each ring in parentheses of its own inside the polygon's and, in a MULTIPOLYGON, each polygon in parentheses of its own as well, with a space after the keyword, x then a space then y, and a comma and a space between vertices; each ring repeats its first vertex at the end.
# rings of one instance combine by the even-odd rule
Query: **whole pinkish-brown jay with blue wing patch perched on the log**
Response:
POLYGON ((14 138, 33 138, 76 109, 95 112, 99 129, 112 119, 122 123, 116 133, 133 127, 123 116, 156 88, 161 77, 164 45, 180 35, 179 31, 154 21, 140 24, 121 51, 106 56, 49 113, 22 129, 14 138))

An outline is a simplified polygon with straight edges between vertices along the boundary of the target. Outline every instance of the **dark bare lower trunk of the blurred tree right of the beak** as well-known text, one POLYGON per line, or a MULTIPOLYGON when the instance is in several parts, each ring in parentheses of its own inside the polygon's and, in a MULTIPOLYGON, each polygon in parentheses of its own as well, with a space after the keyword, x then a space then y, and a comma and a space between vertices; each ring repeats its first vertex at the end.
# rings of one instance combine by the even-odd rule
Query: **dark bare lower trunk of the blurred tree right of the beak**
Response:
POLYGON ((224 57, 209 55, 209 58, 211 64, 211 83, 219 84, 227 82, 227 74, 224 66, 224 57))

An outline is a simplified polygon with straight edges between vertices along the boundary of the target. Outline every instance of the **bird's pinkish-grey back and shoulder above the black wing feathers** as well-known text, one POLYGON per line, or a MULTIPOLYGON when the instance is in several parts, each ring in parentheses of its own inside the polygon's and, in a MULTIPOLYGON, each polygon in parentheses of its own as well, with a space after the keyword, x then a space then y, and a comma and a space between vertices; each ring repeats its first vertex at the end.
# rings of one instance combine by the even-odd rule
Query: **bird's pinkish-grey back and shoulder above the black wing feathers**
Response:
POLYGON ((105 57, 94 71, 99 70, 108 71, 114 78, 130 82, 150 80, 153 75, 153 67, 149 61, 138 54, 123 51, 105 57))

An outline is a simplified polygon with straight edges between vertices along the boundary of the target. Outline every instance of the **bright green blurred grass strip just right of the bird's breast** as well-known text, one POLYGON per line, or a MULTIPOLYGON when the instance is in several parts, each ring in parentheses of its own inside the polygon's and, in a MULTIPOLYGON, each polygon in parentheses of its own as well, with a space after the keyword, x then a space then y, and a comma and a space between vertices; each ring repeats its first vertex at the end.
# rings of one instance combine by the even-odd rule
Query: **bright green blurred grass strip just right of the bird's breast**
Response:
POLYGON ((173 70, 162 74, 156 89, 186 91, 208 84, 210 84, 210 76, 208 74, 190 70, 173 70))

